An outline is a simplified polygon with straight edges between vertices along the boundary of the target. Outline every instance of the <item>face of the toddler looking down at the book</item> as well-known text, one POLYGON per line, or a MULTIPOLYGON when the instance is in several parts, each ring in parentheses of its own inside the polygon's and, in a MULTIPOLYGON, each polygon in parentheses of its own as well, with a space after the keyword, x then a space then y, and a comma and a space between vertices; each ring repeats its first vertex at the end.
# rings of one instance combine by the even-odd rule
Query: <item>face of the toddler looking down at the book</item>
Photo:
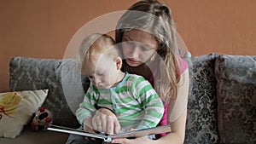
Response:
POLYGON ((118 72, 113 58, 99 53, 87 61, 82 70, 82 73, 90 79, 90 83, 101 89, 113 87, 117 83, 118 72))

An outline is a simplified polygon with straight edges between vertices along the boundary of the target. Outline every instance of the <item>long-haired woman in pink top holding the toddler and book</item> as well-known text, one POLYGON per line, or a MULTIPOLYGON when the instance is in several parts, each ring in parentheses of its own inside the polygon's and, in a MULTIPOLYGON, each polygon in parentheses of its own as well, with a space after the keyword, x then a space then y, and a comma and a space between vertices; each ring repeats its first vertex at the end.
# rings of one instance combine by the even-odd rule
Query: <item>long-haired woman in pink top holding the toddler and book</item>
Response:
MULTIPOLYGON (((189 70, 179 57, 176 28, 171 10, 163 3, 145 0, 134 3, 120 18, 116 43, 124 56, 124 71, 147 78, 165 103, 160 125, 171 124, 172 132, 157 140, 146 137, 114 139, 113 143, 183 143, 189 91, 189 70)), ((112 112, 99 109, 92 118, 95 130, 118 133, 120 126, 112 112)))

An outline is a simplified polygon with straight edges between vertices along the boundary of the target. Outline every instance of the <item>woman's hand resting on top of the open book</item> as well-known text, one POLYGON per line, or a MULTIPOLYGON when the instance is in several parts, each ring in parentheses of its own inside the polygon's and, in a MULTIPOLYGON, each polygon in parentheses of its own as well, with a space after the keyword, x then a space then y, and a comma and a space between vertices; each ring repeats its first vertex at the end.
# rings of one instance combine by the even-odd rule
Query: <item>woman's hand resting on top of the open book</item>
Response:
POLYGON ((119 133, 120 124, 113 112, 107 108, 100 108, 92 118, 92 127, 94 130, 105 132, 108 135, 119 133))

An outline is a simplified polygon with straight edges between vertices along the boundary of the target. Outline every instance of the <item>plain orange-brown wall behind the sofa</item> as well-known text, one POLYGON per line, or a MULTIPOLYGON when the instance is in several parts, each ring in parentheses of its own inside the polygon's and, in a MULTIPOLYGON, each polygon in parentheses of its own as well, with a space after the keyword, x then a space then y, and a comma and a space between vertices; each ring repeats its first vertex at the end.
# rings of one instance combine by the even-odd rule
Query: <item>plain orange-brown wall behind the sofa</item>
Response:
MULTIPOLYGON (((0 92, 9 90, 14 56, 61 59, 73 35, 135 0, 1 0, 0 92)), ((256 55, 256 1, 165 0, 192 55, 256 55)))

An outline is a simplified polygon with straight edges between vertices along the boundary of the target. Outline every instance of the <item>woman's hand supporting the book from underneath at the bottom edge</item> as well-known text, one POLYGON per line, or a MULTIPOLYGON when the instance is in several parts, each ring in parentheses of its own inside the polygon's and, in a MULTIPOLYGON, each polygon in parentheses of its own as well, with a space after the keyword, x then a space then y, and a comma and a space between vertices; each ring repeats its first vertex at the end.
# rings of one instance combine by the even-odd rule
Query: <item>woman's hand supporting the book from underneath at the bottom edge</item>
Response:
POLYGON ((111 143, 120 143, 120 144, 133 144, 133 143, 150 143, 150 139, 147 137, 138 137, 136 139, 125 139, 125 138, 119 138, 119 139, 113 139, 111 143))

